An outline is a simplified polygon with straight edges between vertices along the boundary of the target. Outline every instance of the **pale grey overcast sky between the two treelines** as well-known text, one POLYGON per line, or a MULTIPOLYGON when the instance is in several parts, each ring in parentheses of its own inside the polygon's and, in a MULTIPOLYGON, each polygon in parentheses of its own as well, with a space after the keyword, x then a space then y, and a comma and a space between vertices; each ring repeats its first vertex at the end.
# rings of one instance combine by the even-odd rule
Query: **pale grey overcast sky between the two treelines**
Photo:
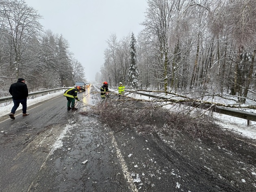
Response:
POLYGON ((85 77, 95 80, 104 63, 111 33, 120 40, 143 29, 147 0, 25 0, 43 17, 45 29, 62 34, 69 50, 85 67, 85 77))

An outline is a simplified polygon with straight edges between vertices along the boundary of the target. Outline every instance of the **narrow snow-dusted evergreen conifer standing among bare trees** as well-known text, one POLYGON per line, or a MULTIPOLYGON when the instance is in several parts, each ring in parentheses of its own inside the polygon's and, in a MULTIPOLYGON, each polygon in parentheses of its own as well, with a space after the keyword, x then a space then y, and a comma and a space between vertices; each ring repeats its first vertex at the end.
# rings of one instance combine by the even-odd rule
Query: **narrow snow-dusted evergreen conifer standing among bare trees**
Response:
POLYGON ((137 63, 136 63, 136 39, 132 32, 131 42, 130 42, 130 68, 128 71, 128 85, 131 88, 138 87, 138 71, 137 71, 137 63))

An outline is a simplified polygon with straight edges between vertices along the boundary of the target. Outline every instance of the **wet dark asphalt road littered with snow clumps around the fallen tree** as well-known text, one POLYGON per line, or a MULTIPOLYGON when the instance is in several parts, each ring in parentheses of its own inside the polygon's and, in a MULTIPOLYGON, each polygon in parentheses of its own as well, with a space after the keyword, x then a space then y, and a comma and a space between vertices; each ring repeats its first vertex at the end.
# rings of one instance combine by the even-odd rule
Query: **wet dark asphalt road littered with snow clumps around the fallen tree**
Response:
POLYGON ((202 142, 172 129, 115 132, 84 113, 100 101, 95 91, 78 94, 77 111, 60 96, 0 123, 0 192, 256 191, 254 145, 202 142))

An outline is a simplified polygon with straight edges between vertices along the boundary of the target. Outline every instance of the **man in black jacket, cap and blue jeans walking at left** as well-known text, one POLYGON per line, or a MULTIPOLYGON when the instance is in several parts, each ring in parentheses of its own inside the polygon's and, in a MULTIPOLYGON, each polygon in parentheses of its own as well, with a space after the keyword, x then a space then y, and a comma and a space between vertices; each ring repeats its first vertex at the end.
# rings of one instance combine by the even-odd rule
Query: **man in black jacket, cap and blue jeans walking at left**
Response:
POLYGON ((15 119, 14 114, 17 108, 22 104, 22 116, 29 115, 27 113, 27 97, 28 97, 28 87, 23 78, 19 78, 16 83, 11 84, 9 88, 9 93, 13 96, 13 108, 9 114, 11 119, 15 119))

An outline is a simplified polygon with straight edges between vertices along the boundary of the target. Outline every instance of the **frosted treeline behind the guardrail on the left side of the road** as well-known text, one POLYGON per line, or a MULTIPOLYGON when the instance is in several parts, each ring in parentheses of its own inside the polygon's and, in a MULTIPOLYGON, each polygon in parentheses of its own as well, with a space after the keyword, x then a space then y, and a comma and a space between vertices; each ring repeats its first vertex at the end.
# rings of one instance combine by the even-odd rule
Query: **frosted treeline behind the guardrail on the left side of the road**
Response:
POLYGON ((67 39, 43 30, 41 18, 23 0, 0 0, 0 96, 7 96, 20 77, 30 91, 72 86, 85 78, 67 39))

